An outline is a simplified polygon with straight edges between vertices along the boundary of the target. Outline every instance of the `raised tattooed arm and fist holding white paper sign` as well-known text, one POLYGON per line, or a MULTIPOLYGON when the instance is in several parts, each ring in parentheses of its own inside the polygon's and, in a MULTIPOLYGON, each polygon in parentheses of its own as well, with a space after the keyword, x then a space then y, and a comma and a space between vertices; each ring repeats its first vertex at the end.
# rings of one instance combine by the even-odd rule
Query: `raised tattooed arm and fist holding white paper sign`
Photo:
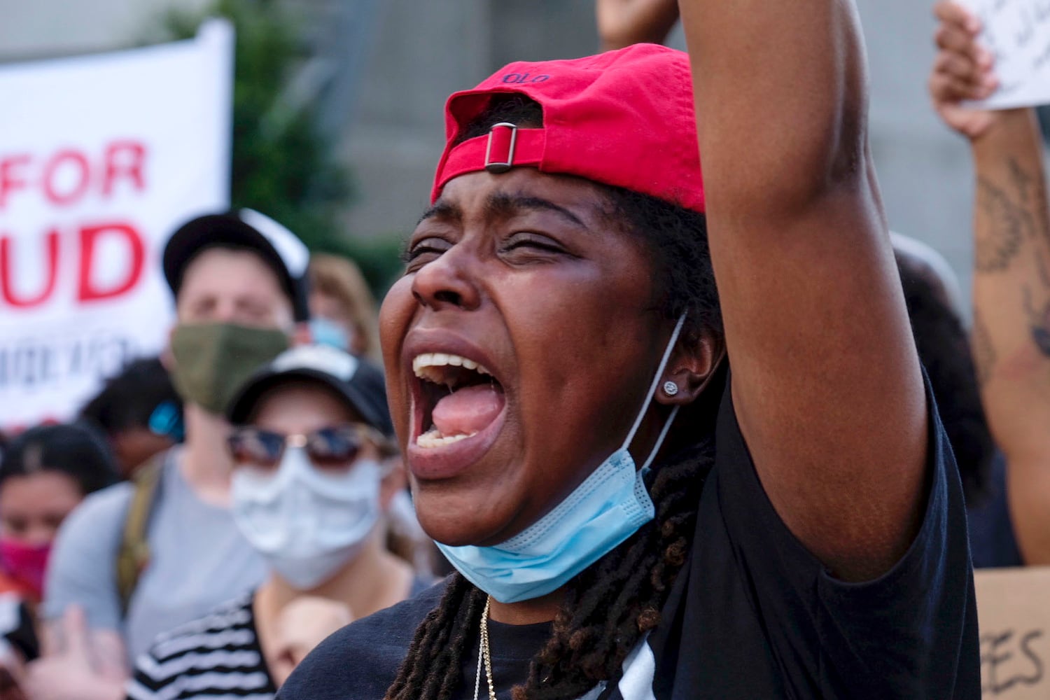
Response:
POLYGON ((1006 454, 1010 511, 1028 564, 1050 564, 1050 213, 1043 143, 1032 109, 985 111, 963 101, 995 87, 981 26, 943 2, 930 92, 970 141, 973 355, 992 433, 1006 454))

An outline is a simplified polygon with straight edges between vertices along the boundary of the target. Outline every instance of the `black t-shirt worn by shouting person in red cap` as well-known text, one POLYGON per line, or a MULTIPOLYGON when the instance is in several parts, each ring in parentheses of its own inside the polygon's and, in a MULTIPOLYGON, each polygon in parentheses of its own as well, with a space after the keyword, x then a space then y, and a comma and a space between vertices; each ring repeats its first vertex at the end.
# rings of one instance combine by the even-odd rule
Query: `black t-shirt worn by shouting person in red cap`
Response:
MULTIPOLYGON (((660 624, 623 676, 587 700, 755 700, 981 697, 976 606, 962 485, 930 406, 923 525, 904 557, 874 581, 844 584, 792 535, 755 472, 728 384, 715 466, 700 497, 690 561, 660 624)), ((440 586, 324 641, 281 688, 284 700, 379 700, 440 586)), ((547 625, 490 622, 498 696, 526 678, 547 625)), ((478 642, 464 650, 460 692, 472 698, 478 642)), ((482 683, 485 683, 484 678, 482 683)), ((480 697, 486 692, 482 685, 480 697)))

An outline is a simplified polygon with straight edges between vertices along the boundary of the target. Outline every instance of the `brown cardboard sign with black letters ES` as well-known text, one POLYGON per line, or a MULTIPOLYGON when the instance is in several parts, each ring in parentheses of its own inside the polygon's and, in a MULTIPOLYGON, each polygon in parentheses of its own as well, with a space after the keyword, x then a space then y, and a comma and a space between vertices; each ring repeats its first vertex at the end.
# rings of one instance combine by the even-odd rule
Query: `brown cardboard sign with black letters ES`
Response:
POLYGON ((1050 567, 973 575, 985 700, 1050 698, 1050 567))

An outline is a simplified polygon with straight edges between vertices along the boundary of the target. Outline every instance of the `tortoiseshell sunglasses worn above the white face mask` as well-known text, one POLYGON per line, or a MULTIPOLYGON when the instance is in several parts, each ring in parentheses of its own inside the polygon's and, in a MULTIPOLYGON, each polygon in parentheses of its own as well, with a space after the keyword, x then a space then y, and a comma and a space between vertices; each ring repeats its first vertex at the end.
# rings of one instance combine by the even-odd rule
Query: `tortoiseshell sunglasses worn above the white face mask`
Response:
POLYGON ((237 466, 276 469, 287 446, 301 447, 318 469, 345 469, 353 464, 365 444, 373 444, 384 455, 388 441, 369 425, 352 423, 323 427, 306 434, 285 434, 251 425, 233 429, 226 444, 237 466))

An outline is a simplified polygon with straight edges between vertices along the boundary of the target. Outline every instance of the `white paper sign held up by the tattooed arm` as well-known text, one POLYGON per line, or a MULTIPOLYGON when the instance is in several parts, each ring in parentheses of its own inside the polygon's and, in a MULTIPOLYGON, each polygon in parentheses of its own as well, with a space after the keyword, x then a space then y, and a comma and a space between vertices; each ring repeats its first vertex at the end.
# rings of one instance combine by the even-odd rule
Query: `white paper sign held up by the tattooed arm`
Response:
POLYGON ((981 43, 995 57, 1000 88, 991 109, 1050 104, 1050 0, 961 0, 984 26, 981 43))

